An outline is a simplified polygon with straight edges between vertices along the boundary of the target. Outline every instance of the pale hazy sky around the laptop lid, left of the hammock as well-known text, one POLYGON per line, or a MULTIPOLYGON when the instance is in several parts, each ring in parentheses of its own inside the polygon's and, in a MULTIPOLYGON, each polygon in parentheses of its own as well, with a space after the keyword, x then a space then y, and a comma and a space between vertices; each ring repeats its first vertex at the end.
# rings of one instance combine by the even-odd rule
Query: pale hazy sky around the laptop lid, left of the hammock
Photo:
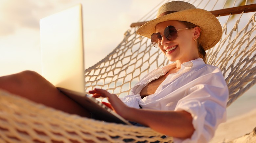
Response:
POLYGON ((24 70, 41 73, 39 20, 78 3, 83 8, 88 68, 107 56, 122 41, 130 24, 138 22, 159 1, 0 0, 0 76, 24 70))

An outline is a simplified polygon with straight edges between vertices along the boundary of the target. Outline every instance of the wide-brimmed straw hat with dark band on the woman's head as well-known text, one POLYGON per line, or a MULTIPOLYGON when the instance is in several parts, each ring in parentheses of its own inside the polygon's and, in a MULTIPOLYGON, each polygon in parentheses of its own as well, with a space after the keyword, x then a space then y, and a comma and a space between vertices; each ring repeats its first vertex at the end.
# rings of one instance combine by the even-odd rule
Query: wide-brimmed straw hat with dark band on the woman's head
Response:
POLYGON ((156 25, 169 20, 186 21, 199 26, 202 29, 201 46, 204 50, 212 48, 221 39, 222 26, 211 12, 181 1, 163 4, 158 10, 157 18, 139 27, 136 33, 150 39, 156 32, 156 25))

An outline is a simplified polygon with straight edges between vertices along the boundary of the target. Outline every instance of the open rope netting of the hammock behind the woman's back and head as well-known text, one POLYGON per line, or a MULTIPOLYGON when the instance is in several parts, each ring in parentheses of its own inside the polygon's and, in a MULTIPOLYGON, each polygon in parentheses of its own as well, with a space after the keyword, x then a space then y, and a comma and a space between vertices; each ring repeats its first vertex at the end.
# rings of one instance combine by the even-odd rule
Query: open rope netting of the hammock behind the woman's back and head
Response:
MULTIPOLYGON (((197 8, 214 10, 224 1, 187 2, 197 8)), ((155 9, 151 11, 156 13, 155 9)), ((155 18, 155 15, 148 15, 150 17, 143 21, 155 18)), ((229 87, 229 106, 255 84, 255 12, 217 18, 223 25, 223 37, 214 48, 206 51, 207 63, 218 66, 223 72, 229 87)), ((108 56, 85 70, 86 91, 103 88, 122 97, 128 95, 131 87, 146 73, 170 63, 158 48, 152 46, 150 39, 135 33, 138 28, 129 29, 123 41, 108 56)))

